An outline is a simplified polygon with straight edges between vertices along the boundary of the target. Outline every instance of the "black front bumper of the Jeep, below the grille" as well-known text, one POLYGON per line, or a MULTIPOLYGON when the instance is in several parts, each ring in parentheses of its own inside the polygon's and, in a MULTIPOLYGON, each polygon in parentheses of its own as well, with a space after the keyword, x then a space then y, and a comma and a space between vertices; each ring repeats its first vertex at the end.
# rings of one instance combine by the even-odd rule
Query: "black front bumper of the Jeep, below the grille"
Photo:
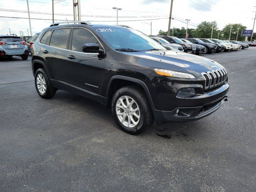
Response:
POLYGON ((226 94, 229 90, 229 84, 225 83, 216 90, 206 92, 193 98, 183 98, 182 107, 176 107, 172 111, 153 110, 154 118, 157 124, 167 122, 188 122, 204 118, 222 106, 226 100, 226 94), (184 107, 187 103, 190 107, 184 107), (193 105, 191 107, 191 105, 193 105), (178 110, 178 113, 177 113, 178 110))

